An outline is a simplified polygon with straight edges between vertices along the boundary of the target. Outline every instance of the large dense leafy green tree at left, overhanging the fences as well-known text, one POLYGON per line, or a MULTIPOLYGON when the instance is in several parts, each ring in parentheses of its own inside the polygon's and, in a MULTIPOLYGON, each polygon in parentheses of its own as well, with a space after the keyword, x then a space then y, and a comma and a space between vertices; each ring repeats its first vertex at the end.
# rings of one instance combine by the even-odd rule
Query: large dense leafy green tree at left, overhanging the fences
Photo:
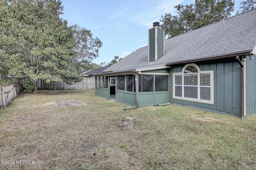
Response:
POLYGON ((60 0, 0 0, 0 5, 0 59, 9 75, 26 74, 35 85, 39 78, 69 84, 81 80, 68 65, 75 39, 59 17, 60 0))

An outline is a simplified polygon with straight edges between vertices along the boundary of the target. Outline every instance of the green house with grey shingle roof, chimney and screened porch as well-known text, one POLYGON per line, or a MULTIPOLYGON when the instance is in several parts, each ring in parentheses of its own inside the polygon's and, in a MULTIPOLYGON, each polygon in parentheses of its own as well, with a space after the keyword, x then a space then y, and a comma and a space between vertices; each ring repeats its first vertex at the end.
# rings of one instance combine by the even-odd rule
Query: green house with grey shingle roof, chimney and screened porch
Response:
POLYGON ((134 108, 170 102, 256 115, 255 16, 250 10, 167 40, 154 23, 148 46, 96 75, 95 95, 134 108))

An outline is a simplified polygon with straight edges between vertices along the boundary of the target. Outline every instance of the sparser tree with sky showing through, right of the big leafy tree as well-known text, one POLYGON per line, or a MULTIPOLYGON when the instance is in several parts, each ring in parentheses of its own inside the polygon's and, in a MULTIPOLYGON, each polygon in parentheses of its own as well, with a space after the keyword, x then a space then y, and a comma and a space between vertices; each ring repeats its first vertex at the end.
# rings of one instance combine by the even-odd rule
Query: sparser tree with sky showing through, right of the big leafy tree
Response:
MULTIPOLYGON (((68 65, 77 70, 90 67, 92 59, 99 56, 99 48, 102 42, 99 38, 93 38, 90 30, 80 28, 77 25, 72 26, 76 43, 74 45, 74 54, 70 56, 68 65)), ((93 65, 92 65, 93 66, 93 65)))

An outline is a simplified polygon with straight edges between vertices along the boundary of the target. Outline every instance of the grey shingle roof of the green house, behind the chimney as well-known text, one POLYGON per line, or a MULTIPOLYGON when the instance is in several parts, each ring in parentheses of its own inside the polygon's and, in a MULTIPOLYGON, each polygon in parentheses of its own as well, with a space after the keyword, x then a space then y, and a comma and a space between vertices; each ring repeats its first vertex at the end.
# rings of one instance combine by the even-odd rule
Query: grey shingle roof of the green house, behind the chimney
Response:
POLYGON ((136 49, 102 73, 249 52, 256 45, 256 9, 165 40, 165 55, 148 62, 148 46, 136 49))

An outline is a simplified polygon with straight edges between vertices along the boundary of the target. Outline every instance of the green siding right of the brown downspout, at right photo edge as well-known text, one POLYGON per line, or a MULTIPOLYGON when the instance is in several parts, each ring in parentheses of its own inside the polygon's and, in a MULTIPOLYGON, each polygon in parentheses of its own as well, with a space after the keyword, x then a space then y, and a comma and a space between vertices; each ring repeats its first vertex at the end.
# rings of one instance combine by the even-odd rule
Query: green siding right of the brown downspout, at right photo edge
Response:
POLYGON ((256 115, 256 55, 252 55, 254 59, 250 60, 246 57, 246 117, 256 115))

